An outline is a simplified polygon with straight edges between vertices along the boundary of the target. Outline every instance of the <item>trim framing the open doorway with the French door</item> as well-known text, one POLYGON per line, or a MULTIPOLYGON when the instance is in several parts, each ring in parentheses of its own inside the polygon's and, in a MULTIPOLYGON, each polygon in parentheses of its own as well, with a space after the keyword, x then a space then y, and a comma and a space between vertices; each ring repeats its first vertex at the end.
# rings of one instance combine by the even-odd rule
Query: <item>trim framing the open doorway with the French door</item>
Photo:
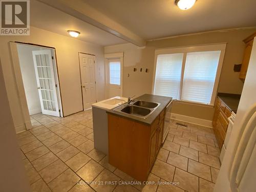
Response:
MULTIPOLYGON (((30 45, 30 46, 35 46, 35 47, 44 47, 48 49, 52 49, 54 51, 54 68, 56 69, 56 74, 57 74, 57 83, 58 83, 58 88, 59 88, 59 108, 61 110, 60 116, 63 117, 63 109, 62 109, 62 99, 61 99, 61 91, 60 91, 60 84, 59 84, 59 75, 58 75, 58 67, 57 67, 57 59, 56 59, 56 51, 55 48, 52 47, 47 47, 47 46, 40 46, 40 45, 35 45, 35 44, 29 44, 25 42, 16 42, 16 41, 9 41, 9 46, 10 46, 10 54, 11 54, 11 65, 13 67, 14 71, 14 76, 15 76, 15 84, 17 88, 17 94, 18 94, 18 99, 19 99, 19 105, 22 111, 22 116, 23 116, 23 122, 26 127, 26 130, 32 129, 32 124, 30 121, 30 115, 29 115, 29 109, 28 109, 28 104, 26 100, 26 94, 25 94, 25 89, 24 89, 24 84, 23 84, 23 79, 22 79, 22 71, 20 70, 20 64, 19 64, 19 58, 18 58, 18 51, 17 51, 17 44, 22 44, 22 45, 30 45)), ((20 126, 20 125, 17 125, 20 126)), ((17 130, 17 126, 15 129, 17 130)))

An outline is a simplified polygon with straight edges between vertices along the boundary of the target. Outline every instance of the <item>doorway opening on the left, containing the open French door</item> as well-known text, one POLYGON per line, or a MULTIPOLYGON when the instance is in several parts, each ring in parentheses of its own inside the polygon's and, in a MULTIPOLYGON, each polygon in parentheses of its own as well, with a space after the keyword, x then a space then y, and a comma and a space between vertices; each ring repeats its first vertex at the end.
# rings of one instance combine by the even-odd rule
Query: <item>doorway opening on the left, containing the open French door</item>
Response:
POLYGON ((55 49, 16 44, 29 115, 63 117, 55 49))

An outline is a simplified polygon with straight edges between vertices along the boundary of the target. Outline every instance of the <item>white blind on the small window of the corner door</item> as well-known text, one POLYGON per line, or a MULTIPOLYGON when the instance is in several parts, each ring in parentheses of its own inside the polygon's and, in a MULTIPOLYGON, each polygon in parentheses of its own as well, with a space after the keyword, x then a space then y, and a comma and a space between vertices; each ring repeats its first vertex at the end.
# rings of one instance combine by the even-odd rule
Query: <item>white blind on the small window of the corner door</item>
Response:
POLYGON ((120 61, 111 61, 109 63, 109 73, 110 73, 110 84, 120 85, 121 78, 121 63, 120 61))

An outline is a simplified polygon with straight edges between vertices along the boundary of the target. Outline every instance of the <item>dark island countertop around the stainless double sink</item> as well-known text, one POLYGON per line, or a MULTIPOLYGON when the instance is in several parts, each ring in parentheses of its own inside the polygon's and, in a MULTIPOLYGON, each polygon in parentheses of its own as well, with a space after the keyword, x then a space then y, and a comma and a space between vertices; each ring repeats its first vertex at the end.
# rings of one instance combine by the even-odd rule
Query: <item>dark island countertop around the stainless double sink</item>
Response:
POLYGON ((117 115, 117 116, 124 117, 124 118, 127 118, 127 119, 131 119, 133 121, 144 123, 146 125, 151 125, 154 122, 154 120, 157 118, 157 116, 167 106, 167 104, 172 100, 172 97, 164 97, 164 96, 158 96, 158 95, 144 94, 144 95, 141 95, 141 96, 135 98, 135 100, 158 102, 158 103, 161 103, 161 104, 146 119, 142 119, 142 118, 139 118, 139 117, 135 117, 133 115, 129 115, 129 114, 125 114, 125 113, 120 113, 118 111, 113 111, 113 110, 106 111, 106 113, 109 113, 109 114, 112 114, 112 115, 117 115))

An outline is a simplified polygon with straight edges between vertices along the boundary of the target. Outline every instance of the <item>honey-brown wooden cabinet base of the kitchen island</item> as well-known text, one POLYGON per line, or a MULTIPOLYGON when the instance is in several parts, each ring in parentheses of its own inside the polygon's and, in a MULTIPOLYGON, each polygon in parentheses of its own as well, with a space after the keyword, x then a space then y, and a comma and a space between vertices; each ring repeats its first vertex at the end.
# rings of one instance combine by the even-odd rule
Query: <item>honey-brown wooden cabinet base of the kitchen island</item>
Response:
POLYGON ((163 110, 151 125, 108 114, 109 163, 146 181, 162 144, 163 110))

